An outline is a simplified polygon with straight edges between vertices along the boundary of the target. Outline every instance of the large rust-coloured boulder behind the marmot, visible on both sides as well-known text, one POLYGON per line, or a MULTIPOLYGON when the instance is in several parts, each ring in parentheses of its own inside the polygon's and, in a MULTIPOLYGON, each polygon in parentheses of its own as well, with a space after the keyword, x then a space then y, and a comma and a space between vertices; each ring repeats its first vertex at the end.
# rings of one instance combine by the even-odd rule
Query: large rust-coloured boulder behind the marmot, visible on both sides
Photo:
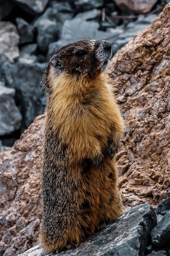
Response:
MULTIPOLYGON (((110 62, 125 119, 117 154, 125 207, 156 207, 170 196, 170 4, 110 62)), ((0 154, 0 255, 37 242, 42 216, 40 165, 44 115, 0 154)))

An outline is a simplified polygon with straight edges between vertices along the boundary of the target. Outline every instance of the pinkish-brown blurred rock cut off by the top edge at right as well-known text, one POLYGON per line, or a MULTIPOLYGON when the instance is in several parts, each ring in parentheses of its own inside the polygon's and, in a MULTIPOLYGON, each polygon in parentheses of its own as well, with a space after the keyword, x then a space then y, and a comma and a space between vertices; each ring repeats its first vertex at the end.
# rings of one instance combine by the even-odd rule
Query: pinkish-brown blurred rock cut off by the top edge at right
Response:
POLYGON ((149 12, 152 7, 156 4, 157 0, 113 0, 117 6, 123 11, 134 11, 136 13, 149 12))

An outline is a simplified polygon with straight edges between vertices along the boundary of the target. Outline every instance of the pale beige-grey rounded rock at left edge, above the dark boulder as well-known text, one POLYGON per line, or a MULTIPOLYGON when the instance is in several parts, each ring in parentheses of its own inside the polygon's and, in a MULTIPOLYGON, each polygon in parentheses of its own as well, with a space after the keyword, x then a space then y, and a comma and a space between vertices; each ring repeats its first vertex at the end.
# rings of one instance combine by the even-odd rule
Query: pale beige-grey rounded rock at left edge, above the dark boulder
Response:
POLYGON ((0 64, 18 58, 19 35, 11 22, 0 22, 0 64))

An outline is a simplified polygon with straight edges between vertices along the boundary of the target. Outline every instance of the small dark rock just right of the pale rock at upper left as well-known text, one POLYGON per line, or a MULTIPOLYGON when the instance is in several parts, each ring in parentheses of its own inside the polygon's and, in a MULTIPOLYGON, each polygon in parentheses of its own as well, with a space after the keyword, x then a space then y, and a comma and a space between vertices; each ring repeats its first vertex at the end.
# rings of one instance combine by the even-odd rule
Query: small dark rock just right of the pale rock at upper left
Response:
POLYGON ((20 35, 20 44, 31 43, 33 41, 33 29, 26 20, 16 18, 18 34, 20 35))

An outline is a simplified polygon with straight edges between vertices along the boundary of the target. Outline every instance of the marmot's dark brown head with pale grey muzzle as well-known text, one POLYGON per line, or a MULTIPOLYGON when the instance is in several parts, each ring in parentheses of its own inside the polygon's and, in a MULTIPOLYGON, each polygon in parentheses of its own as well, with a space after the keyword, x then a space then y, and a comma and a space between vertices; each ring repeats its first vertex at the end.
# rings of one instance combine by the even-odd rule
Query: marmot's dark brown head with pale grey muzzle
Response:
POLYGON ((49 65, 56 75, 64 73, 87 78, 100 74, 111 56, 108 41, 84 39, 60 47, 51 57, 49 65))

